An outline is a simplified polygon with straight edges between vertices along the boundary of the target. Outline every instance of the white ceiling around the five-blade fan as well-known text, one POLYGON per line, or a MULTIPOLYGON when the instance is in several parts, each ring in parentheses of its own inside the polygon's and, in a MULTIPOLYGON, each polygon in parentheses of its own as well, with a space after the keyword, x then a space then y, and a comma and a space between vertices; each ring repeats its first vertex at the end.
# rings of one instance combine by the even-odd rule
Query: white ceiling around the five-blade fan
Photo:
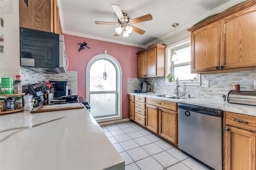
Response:
POLYGON ((203 18, 222 12, 244 0, 57 0, 64 34, 77 35, 114 43, 146 47, 153 41, 192 27, 203 18), (118 4, 131 19, 151 14, 153 20, 134 26, 146 31, 129 37, 114 36, 118 25, 98 25, 94 21, 118 22, 111 4, 118 4))

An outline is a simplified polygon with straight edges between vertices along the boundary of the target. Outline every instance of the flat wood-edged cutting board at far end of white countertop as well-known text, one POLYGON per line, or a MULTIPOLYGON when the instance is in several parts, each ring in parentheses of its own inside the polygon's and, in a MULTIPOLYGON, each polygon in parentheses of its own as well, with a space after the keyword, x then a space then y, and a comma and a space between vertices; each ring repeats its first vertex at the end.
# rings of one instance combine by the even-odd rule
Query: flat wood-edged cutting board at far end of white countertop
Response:
POLYGON ((46 111, 59 111, 59 110, 69 110, 69 109, 82 109, 82 108, 84 108, 84 105, 82 103, 42 105, 30 111, 30 113, 40 113, 40 112, 46 112, 46 111))

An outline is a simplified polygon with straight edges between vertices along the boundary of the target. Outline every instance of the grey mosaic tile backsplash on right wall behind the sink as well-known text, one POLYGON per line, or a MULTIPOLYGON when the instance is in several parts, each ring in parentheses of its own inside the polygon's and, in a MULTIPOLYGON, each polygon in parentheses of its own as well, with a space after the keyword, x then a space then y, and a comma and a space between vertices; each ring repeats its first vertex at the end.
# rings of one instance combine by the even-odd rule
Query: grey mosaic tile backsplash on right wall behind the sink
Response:
MULTIPOLYGON (((227 94, 233 90, 233 84, 240 84, 241 91, 256 91, 253 89, 253 80, 256 80, 256 70, 225 72, 214 74, 201 74, 201 81, 209 81, 209 88, 200 86, 180 85, 179 92, 182 96, 190 94, 191 97, 197 98, 214 98, 222 100, 222 94, 227 94)), ((176 85, 166 85, 165 78, 128 78, 128 92, 139 90, 141 82, 147 82, 156 87, 153 88, 154 93, 175 95, 176 85)))

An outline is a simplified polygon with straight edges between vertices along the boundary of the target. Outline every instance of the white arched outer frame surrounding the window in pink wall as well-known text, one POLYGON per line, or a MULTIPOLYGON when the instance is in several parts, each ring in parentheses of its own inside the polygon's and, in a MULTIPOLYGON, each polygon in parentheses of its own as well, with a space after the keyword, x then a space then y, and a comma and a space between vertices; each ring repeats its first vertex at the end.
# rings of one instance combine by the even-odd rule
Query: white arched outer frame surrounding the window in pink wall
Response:
POLYGON ((98 117, 94 118, 97 123, 99 122, 104 122, 104 121, 113 121, 113 120, 119 120, 122 119, 122 68, 120 63, 111 55, 108 54, 100 54, 92 57, 90 61, 87 63, 86 66, 86 100, 89 101, 89 87, 90 87, 90 67, 94 63, 94 61, 99 60, 99 59, 108 59, 112 61, 113 64, 115 64, 116 69, 117 69, 117 115, 113 116, 107 116, 107 117, 98 117))

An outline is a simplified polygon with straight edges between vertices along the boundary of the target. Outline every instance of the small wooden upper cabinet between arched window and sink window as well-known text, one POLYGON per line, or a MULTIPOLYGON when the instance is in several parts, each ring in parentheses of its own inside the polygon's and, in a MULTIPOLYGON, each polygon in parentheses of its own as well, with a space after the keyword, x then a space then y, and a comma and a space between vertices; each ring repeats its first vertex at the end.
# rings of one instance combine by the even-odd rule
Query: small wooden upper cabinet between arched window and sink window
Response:
POLYGON ((165 77, 165 49, 156 44, 136 53, 138 78, 165 77))

